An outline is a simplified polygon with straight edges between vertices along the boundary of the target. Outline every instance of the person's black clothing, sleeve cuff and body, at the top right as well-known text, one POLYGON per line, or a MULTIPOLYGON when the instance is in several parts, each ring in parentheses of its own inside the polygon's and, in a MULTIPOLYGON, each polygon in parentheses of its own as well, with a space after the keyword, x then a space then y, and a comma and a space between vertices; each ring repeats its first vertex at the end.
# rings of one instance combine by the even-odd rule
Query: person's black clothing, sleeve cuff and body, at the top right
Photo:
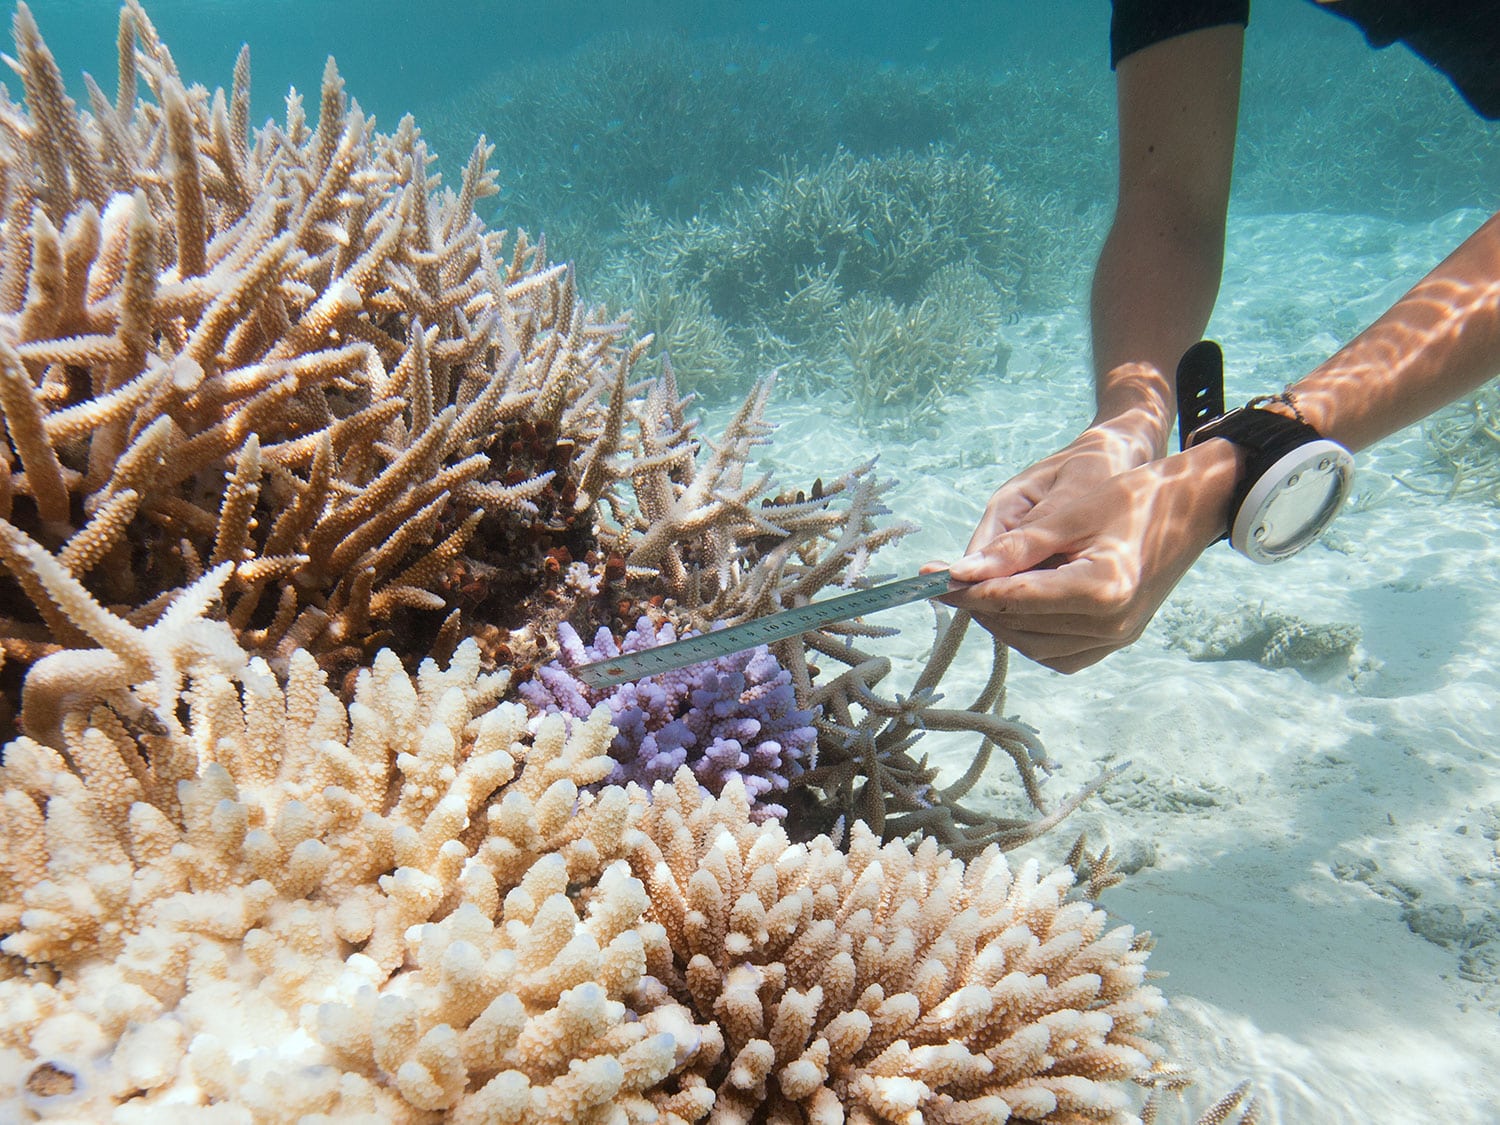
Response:
MULTIPOLYGON (((1220 24, 1250 20, 1250 0, 1113 0, 1110 64, 1132 51, 1220 24)), ((1336 0, 1371 46, 1401 42, 1436 66, 1473 110, 1500 118, 1500 3, 1496 0, 1336 0)))

